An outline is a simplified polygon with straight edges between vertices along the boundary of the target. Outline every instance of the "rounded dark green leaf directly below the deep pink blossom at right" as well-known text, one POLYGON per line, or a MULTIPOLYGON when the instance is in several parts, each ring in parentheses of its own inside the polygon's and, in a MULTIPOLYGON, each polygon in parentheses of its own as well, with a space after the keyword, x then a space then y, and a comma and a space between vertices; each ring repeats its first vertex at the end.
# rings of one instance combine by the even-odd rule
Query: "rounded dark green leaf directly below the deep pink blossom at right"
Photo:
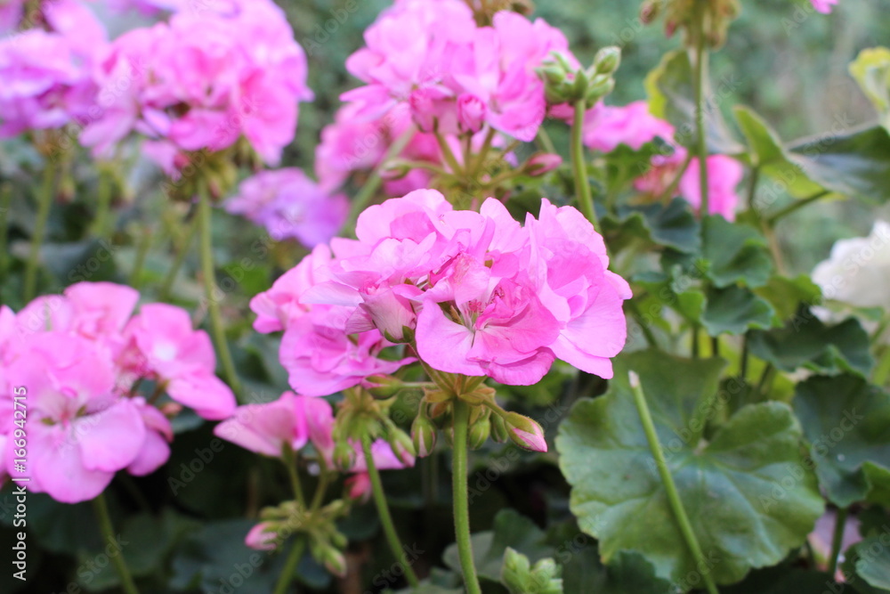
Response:
POLYGON ((708 216, 702 223, 702 240, 705 261, 700 265, 718 289, 737 282, 760 287, 769 280, 773 260, 765 238, 752 227, 708 216))

